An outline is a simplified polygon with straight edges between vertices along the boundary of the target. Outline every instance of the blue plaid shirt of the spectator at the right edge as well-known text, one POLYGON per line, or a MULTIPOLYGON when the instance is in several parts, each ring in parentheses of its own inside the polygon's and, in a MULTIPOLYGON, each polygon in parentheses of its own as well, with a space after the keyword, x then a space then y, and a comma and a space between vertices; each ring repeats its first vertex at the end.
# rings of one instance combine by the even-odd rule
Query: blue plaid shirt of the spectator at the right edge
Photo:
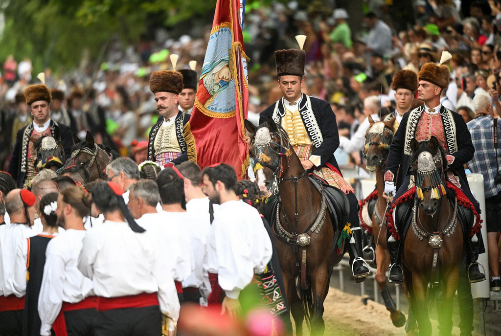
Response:
MULTIPOLYGON (((473 119, 467 124, 471 134, 473 147, 475 147, 475 154, 473 154, 473 159, 471 159, 466 166, 472 173, 483 175, 485 198, 497 195, 497 193, 501 191, 501 186, 494 182, 497 166, 492 138, 492 123, 493 118, 491 116, 484 116, 473 119)), ((501 123, 499 123, 499 119, 497 119, 498 136, 499 132, 501 132, 499 128, 501 128, 501 123)), ((498 160, 501 158, 500 147, 497 149, 498 160)))

